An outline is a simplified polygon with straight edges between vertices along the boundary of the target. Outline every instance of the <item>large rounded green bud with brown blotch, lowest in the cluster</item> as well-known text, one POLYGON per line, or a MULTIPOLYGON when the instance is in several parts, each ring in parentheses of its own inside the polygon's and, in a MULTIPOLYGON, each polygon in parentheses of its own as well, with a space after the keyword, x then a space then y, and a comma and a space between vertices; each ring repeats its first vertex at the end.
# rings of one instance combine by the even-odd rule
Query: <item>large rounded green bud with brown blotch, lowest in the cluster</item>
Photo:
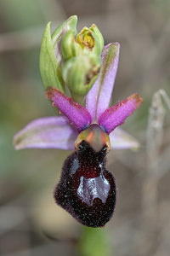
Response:
POLYGON ((101 59, 98 55, 77 55, 62 67, 62 76, 71 96, 85 96, 98 78, 101 59))

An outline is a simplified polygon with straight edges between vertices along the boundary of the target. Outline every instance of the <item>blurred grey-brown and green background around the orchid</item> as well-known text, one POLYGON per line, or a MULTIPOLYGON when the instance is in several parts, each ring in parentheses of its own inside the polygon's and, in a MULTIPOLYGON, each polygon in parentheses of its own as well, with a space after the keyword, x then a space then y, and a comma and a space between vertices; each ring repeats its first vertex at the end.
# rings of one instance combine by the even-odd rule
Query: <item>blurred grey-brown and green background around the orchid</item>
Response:
POLYGON ((168 0, 0 1, 0 255, 168 256, 170 252, 170 2, 168 0), (38 68, 42 32, 71 15, 120 42, 113 102, 144 103, 122 128, 141 148, 113 150, 116 212, 105 229, 84 228, 55 205, 68 151, 14 151, 14 133, 54 115, 38 68), (161 92, 157 92, 161 89, 161 92), (167 95, 165 94, 167 92, 167 95))

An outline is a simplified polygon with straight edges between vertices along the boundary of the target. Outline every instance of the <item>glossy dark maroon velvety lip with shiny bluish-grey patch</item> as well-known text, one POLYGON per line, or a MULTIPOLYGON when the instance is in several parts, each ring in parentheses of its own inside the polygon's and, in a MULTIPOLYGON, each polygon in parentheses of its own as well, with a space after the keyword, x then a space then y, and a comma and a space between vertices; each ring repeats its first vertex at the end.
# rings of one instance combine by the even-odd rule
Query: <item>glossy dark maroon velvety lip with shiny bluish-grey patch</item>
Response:
POLYGON ((59 206, 89 227, 102 227, 111 218, 116 204, 116 183, 105 169, 106 146, 99 152, 85 141, 63 165, 54 198, 59 206))

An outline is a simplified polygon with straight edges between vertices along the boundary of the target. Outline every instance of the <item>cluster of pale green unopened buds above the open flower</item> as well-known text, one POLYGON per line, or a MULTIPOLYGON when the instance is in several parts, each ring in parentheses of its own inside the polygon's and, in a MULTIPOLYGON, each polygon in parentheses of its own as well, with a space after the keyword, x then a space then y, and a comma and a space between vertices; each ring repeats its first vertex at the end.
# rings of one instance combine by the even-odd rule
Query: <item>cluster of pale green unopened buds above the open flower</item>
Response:
MULTIPOLYGON (((42 36, 40 73, 45 90, 56 87, 71 96, 86 96, 99 76, 104 39, 94 24, 77 33, 77 16, 65 20, 50 34, 50 22, 42 36)), ((65 93, 66 94, 66 93, 65 93)))

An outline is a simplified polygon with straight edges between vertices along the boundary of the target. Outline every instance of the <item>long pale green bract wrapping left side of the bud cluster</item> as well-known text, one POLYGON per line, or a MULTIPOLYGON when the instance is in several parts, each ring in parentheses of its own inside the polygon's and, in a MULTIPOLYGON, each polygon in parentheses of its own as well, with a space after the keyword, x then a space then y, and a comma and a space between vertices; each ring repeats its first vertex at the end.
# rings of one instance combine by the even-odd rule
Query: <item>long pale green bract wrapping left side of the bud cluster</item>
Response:
POLYGON ((50 24, 51 22, 48 22, 42 35, 40 50, 40 73, 42 83, 45 90, 48 90, 48 86, 53 86, 65 92, 65 83, 60 71, 62 61, 60 43, 66 32, 70 30, 76 32, 77 16, 71 16, 68 20, 65 20, 65 22, 54 31, 52 36, 50 24))

